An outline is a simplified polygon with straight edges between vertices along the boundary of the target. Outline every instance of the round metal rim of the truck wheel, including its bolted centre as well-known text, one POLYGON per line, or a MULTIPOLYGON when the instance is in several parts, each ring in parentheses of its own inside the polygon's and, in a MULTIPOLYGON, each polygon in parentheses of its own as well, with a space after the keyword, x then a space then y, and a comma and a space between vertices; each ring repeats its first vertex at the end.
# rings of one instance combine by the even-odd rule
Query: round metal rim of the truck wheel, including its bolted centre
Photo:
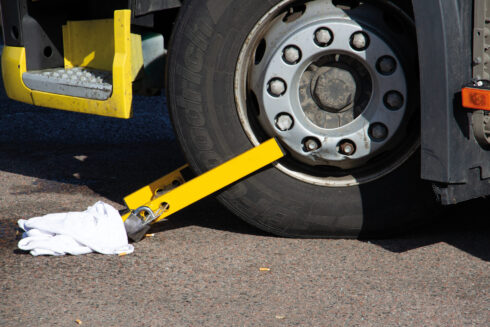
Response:
POLYGON ((273 7, 248 35, 235 74, 251 142, 276 137, 290 159, 276 168, 317 185, 357 185, 402 165, 418 139, 403 135, 409 89, 386 39, 332 0, 273 7))

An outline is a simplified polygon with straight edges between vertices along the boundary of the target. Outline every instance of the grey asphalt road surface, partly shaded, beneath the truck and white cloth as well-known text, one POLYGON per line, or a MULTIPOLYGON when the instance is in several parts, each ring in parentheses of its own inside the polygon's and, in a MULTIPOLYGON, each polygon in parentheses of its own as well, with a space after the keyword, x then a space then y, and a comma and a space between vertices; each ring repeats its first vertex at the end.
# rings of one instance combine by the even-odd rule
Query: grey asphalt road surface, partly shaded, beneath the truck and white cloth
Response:
POLYGON ((17 250, 18 219, 98 200, 122 208, 124 195, 184 163, 164 99, 134 107, 123 121, 0 93, 0 326, 490 325, 488 200, 360 241, 274 237, 207 199, 131 255, 17 250))

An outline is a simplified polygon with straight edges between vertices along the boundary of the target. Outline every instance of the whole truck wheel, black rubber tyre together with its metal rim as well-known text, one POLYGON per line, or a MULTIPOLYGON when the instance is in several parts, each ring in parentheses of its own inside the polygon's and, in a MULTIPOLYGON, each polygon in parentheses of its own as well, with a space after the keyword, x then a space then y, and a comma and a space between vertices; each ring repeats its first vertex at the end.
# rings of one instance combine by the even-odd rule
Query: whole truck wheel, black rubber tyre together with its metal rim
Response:
POLYGON ((166 72, 203 173, 276 137, 287 156, 218 194, 290 237, 373 237, 427 220, 413 21, 386 1, 188 0, 166 72))

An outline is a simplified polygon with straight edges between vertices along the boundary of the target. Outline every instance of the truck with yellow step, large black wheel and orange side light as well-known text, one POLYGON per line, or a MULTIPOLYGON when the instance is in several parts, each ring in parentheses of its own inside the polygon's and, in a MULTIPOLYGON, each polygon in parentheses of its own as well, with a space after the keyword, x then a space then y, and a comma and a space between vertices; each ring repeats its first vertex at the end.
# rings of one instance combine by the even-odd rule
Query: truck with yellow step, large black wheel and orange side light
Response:
MULTIPOLYGON (((7 95, 129 119, 165 90, 195 173, 286 237, 377 237, 490 194, 490 0, 0 0, 7 95)), ((162 108, 164 110, 164 108, 162 108)))

